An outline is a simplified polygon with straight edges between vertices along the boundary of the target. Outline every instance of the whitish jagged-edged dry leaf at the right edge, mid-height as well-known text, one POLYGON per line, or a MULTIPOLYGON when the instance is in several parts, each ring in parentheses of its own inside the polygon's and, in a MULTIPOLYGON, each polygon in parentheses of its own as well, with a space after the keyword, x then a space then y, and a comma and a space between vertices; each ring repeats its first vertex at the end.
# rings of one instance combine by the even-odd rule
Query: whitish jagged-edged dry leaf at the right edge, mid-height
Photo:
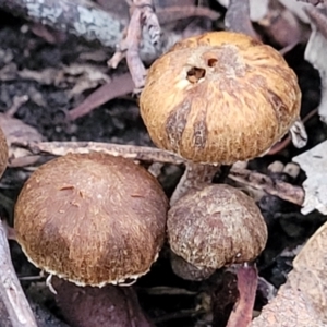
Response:
POLYGON ((327 215, 327 141, 292 159, 305 171, 307 179, 303 183, 305 197, 302 214, 314 209, 327 215))

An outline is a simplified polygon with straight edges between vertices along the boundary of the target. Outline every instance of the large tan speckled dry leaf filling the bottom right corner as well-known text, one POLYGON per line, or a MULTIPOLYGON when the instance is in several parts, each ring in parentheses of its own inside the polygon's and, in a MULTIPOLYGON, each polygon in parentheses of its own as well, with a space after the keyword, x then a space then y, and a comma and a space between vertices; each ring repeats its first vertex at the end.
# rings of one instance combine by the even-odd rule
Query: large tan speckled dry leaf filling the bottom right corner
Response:
POLYGON ((277 296, 251 327, 327 326, 327 222, 307 241, 277 296))

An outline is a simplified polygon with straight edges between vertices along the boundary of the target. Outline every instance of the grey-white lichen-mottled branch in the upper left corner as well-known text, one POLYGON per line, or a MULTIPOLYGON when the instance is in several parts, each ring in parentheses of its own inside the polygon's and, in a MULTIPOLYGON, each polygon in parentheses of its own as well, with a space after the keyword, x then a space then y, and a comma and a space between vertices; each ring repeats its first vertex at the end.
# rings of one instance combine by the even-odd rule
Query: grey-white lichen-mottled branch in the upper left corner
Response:
POLYGON ((112 48, 120 41, 126 24, 87 0, 0 0, 0 8, 112 48))

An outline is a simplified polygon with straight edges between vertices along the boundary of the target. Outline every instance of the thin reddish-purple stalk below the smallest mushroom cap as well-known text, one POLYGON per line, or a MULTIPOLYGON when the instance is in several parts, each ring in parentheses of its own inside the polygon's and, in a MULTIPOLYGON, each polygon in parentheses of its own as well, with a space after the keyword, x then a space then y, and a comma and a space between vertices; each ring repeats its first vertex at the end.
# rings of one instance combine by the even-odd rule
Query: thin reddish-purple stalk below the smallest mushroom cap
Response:
POLYGON ((227 327, 247 327, 252 320, 252 312, 257 288, 257 269, 255 264, 245 263, 238 267, 239 301, 230 314, 227 327))

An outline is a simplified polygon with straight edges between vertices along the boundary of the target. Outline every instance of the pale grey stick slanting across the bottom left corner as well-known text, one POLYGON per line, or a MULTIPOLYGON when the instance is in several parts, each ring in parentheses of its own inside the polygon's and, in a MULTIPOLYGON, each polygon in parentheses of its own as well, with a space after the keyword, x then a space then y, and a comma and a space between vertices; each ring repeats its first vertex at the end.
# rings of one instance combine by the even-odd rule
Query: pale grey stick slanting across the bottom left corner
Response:
POLYGON ((7 241, 7 233, 0 220, 0 296, 13 327, 37 327, 33 312, 14 271, 7 241))

